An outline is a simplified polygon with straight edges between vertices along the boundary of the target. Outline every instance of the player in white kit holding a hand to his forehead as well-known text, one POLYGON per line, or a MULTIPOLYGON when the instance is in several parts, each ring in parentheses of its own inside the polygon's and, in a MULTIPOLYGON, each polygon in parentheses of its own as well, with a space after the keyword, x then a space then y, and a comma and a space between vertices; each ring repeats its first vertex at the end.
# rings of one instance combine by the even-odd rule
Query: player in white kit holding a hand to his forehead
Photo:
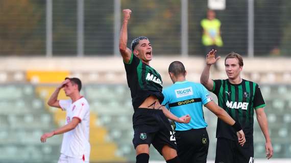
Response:
POLYGON ((51 132, 44 133, 40 140, 46 142, 56 134, 63 135, 61 156, 58 163, 89 162, 89 120, 90 111, 87 100, 81 96, 82 83, 79 78, 65 78, 48 99, 47 104, 66 111, 65 125, 51 132), (68 100, 58 100, 58 94, 64 89, 68 100))

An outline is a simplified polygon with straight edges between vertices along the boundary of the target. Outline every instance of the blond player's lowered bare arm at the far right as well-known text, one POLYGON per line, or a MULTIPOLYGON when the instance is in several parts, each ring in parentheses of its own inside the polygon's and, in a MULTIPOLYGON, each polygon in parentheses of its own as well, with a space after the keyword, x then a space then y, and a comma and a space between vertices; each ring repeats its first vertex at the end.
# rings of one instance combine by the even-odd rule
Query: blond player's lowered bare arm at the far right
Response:
POLYGON ((260 128, 264 134, 265 137, 265 152, 266 152, 266 157, 270 159, 273 156, 273 146, 268 130, 268 121, 266 118, 266 114, 264 112, 264 108, 257 108, 256 109, 256 115, 257 115, 257 120, 260 125, 260 128))

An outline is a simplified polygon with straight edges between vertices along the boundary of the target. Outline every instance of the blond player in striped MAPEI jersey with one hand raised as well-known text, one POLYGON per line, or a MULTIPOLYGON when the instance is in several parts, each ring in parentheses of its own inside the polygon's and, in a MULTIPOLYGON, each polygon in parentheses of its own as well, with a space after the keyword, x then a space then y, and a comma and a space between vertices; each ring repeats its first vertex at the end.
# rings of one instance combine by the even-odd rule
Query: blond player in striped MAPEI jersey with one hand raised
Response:
POLYGON ((215 162, 254 162, 254 110, 265 137, 266 157, 270 159, 273 156, 273 147, 268 131, 268 121, 264 113, 265 102, 260 87, 258 84, 240 77, 244 61, 235 52, 229 53, 225 58, 225 71, 228 78, 209 79, 211 65, 220 59, 220 57, 215 58, 215 54, 216 50, 214 49, 207 54, 206 66, 201 74, 200 82, 217 96, 219 106, 241 124, 246 134, 246 143, 241 147, 234 137, 235 130, 221 119, 217 119, 215 162))

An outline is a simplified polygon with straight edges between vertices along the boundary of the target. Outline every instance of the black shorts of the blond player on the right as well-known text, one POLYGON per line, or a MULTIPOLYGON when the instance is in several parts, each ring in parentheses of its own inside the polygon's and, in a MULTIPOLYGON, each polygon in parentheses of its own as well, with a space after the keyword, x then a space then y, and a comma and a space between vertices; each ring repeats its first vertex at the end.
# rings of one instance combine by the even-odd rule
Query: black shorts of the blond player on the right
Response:
POLYGON ((246 138, 243 147, 238 141, 225 138, 217 138, 215 163, 253 163, 254 162, 254 142, 253 139, 246 138))

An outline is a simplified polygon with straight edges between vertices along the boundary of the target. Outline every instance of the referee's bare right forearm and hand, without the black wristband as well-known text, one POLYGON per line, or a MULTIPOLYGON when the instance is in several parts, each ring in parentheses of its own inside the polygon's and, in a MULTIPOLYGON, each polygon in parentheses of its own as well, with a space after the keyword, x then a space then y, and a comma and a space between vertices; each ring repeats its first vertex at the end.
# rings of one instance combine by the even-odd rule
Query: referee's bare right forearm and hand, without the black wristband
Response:
MULTIPOLYGON (((219 105, 217 105, 214 101, 209 101, 205 104, 205 107, 207 107, 212 113, 214 113, 218 118, 220 118, 225 123, 233 126, 235 121, 229 116, 229 114, 226 113, 226 111, 221 108, 219 105)), ((246 143, 246 136, 244 131, 241 129, 238 132, 236 132, 238 143, 241 146, 244 146, 246 143)))

